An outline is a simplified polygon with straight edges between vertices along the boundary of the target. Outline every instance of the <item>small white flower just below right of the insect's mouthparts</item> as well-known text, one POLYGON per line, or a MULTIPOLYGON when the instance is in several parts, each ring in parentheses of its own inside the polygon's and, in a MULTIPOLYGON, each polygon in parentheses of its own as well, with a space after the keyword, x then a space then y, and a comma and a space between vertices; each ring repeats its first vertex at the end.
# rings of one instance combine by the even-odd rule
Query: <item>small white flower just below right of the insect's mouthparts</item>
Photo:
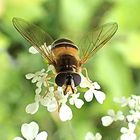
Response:
POLYGON ((84 104, 83 100, 78 99, 80 96, 80 93, 77 94, 72 94, 71 98, 69 99, 69 103, 71 105, 75 105, 77 108, 81 108, 82 105, 84 104))

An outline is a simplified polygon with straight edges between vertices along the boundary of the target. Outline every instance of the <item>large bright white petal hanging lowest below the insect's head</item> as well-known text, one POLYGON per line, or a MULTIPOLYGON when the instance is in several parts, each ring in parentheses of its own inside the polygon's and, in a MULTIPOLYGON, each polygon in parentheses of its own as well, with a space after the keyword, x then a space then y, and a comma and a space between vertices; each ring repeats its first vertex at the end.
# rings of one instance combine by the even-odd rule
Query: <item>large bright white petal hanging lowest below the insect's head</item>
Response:
POLYGON ((62 104, 59 110, 59 117, 61 121, 67 121, 72 119, 72 111, 69 106, 62 104))

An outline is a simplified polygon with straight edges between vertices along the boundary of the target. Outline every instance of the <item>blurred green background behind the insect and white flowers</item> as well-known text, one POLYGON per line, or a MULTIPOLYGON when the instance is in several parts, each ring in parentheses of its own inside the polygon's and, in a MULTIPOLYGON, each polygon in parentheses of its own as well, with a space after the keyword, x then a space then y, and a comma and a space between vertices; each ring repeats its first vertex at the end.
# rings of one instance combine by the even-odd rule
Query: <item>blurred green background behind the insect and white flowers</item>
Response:
POLYGON ((121 124, 103 127, 100 118, 108 109, 119 109, 114 97, 139 95, 140 91, 140 1, 139 0, 0 0, 0 139, 20 136, 22 123, 37 121, 49 140, 83 140, 87 131, 100 132, 103 140, 116 140, 121 124), (25 74, 46 68, 39 55, 28 53, 29 44, 12 25, 12 18, 31 21, 54 39, 76 38, 82 32, 117 22, 113 39, 86 64, 93 81, 100 83, 107 99, 94 100, 73 109, 71 126, 40 106, 35 115, 25 113, 34 100, 35 87, 25 74), (92 67, 92 69, 91 69, 92 67))

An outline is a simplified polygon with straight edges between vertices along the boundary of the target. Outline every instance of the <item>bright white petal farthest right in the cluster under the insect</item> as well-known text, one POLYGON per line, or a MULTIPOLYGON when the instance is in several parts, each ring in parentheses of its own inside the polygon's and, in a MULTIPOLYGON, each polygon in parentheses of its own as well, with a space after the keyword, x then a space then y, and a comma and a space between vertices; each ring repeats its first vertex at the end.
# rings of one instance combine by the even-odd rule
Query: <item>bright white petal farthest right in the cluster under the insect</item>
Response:
POLYGON ((97 90, 94 90, 94 95, 95 95, 95 98, 96 98, 96 100, 100 103, 100 104, 102 104, 103 103, 103 101, 105 100, 105 94, 104 94, 104 92, 102 92, 102 91, 97 91, 97 90))

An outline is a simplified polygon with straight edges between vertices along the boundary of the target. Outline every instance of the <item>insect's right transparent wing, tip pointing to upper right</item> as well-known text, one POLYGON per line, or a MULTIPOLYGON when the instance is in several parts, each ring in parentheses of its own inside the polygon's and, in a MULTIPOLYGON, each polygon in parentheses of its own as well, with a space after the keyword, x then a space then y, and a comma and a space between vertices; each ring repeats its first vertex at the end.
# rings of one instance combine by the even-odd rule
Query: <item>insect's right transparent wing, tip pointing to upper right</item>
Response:
POLYGON ((102 48, 116 33, 117 29, 117 23, 107 23, 83 36, 79 44, 81 64, 84 64, 102 48))

